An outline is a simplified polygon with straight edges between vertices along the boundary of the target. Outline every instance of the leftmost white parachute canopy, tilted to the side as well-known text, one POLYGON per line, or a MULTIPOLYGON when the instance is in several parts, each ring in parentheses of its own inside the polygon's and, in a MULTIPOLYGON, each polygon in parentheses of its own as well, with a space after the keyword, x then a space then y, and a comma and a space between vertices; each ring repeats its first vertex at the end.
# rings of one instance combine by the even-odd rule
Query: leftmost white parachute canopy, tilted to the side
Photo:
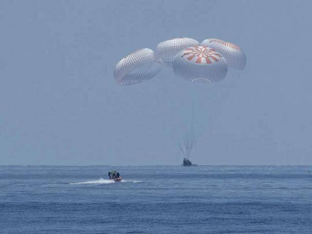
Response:
POLYGON ((114 70, 114 78, 121 86, 133 85, 152 79, 160 72, 161 60, 148 48, 137 50, 122 58, 114 70))

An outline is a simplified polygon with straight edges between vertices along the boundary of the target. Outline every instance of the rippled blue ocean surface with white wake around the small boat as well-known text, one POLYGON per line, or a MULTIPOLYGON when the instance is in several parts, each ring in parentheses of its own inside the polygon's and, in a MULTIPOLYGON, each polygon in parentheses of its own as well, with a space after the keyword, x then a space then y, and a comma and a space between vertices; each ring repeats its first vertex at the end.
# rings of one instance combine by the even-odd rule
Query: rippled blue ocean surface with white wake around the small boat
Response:
POLYGON ((312 234, 312 166, 0 166, 0 234, 57 233, 312 234))

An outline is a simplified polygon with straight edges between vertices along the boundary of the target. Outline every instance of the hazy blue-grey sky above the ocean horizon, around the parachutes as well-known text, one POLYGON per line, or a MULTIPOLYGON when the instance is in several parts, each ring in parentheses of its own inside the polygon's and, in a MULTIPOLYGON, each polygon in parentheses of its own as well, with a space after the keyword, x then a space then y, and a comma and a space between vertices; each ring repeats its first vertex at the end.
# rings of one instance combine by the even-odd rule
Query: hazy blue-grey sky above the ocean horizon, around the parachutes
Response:
POLYGON ((312 2, 0 0, 0 164, 312 164, 312 2), (174 37, 246 53, 211 85, 163 70, 118 86, 126 54, 174 37))

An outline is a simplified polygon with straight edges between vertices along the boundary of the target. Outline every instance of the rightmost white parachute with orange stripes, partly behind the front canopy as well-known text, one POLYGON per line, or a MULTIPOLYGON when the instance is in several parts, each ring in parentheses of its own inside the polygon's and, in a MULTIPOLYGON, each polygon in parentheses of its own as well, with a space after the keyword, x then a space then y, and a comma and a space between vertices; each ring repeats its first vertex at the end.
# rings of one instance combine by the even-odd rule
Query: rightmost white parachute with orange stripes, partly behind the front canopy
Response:
POLYGON ((237 45, 216 38, 203 40, 200 45, 213 48, 222 54, 230 68, 245 69, 246 55, 237 45))

